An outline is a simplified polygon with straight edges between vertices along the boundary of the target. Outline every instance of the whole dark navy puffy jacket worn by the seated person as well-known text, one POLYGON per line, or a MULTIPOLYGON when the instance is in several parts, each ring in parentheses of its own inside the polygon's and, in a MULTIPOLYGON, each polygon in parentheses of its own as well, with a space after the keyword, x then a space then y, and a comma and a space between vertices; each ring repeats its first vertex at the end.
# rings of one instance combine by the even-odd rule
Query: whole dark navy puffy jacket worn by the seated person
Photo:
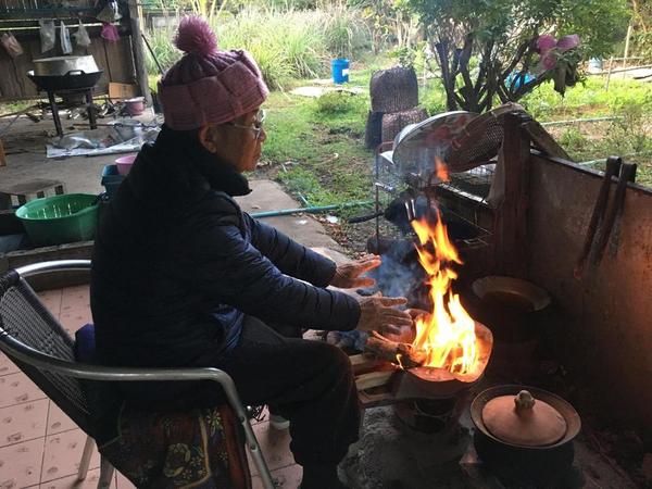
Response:
POLYGON ((142 148, 96 237, 90 299, 103 363, 218 360, 238 340, 243 313, 355 327, 358 302, 324 288, 335 264, 241 212, 231 197, 249 191, 189 136, 164 127, 142 148))

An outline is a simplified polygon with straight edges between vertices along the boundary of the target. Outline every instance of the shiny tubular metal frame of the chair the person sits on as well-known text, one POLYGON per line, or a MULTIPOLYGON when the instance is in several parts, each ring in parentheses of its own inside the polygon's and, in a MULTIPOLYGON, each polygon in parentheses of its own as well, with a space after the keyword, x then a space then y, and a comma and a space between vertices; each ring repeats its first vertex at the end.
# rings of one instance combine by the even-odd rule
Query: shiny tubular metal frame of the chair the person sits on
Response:
MULTIPOLYGON (((26 277, 34 275, 52 273, 52 272, 70 272, 70 271, 89 271, 89 260, 61 260, 52 262, 43 262, 34 265, 27 265, 15 271, 7 272, 7 274, 17 273, 20 280, 24 281, 26 277)), ((2 277, 0 277, 1 279, 2 277)), ((0 297, 1 299, 1 297, 0 297)), ((2 317, 0 315, 0 350, 4 352, 14 363, 16 361, 27 364, 32 367, 62 374, 64 376, 76 379, 88 380, 111 380, 111 381, 179 381, 179 380, 212 380, 222 386, 226 394, 227 401, 234 410, 236 417, 244 429, 244 438, 247 449, 249 450, 253 463, 255 464, 259 475, 262 479, 265 489, 274 489, 269 468, 263 457, 261 448, 255 438, 247 411, 240 401, 240 397, 236 389, 236 385, 231 377, 224 371, 218 368, 133 368, 133 367, 108 367, 84 364, 78 362, 70 362, 58 359, 55 356, 42 353, 22 341, 14 338, 3 328, 2 317)), ((47 381, 47 380, 46 380, 47 381)), ((65 410, 64 410, 65 411, 65 410)), ((90 425, 90 423, 88 424, 90 425)), ((82 461, 79 463, 78 478, 83 480, 88 472, 90 457, 95 444, 95 439, 91 434, 88 434, 88 439, 84 447, 82 461)), ((101 457, 100 463, 100 480, 98 489, 109 487, 113 475, 113 466, 111 463, 101 457)))

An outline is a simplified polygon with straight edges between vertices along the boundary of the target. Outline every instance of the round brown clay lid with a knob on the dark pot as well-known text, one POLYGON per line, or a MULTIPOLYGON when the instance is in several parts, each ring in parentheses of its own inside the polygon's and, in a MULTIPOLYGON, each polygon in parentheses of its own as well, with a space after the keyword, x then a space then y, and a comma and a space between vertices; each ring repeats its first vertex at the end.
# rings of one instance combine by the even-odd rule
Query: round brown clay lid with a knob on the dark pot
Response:
POLYGON ((496 438, 524 447, 553 444, 567 429, 557 410, 527 390, 491 399, 482 409, 482 423, 496 438))

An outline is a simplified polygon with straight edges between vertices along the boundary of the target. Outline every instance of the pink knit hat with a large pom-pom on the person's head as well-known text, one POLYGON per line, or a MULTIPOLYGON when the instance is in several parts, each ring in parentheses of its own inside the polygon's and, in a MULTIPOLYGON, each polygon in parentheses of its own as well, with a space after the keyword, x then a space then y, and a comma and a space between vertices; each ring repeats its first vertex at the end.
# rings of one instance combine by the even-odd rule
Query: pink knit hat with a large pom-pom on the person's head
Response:
POLYGON ((159 82, 165 124, 197 129, 223 124, 253 111, 269 90, 246 51, 218 51, 217 36, 198 16, 184 17, 174 39, 185 52, 159 82))

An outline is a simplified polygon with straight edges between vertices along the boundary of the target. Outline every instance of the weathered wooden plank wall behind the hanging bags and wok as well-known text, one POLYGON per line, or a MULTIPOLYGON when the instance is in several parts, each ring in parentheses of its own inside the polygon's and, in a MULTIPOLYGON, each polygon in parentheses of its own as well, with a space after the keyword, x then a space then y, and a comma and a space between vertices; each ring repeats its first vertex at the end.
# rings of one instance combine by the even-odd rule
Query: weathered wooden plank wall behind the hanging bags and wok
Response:
MULTIPOLYGON (((92 9, 90 1, 78 0, 75 2, 76 10, 70 11, 61 9, 49 11, 46 7, 38 5, 40 1, 37 0, 36 8, 22 10, 21 5, 25 5, 25 3, 21 0, 0 0, 0 32, 11 30, 24 50, 22 55, 11 59, 4 49, 0 48, 0 101, 37 98, 36 86, 27 78, 26 73, 34 68, 33 60, 63 54, 59 33, 60 20, 64 20, 71 35, 76 32, 79 18, 87 26, 91 45, 87 49, 80 49, 76 47, 75 40, 71 39, 74 48, 72 54, 92 54, 99 68, 104 72, 96 88, 96 93, 106 93, 110 82, 137 83, 127 16, 116 24, 121 36, 120 40, 109 42, 100 37, 101 26, 92 16, 96 10, 92 9), (57 18, 57 42, 54 48, 47 52, 41 52, 38 32, 39 17, 57 18)), ((126 9, 125 5, 123 8, 126 9)), ((121 8, 121 12, 123 8, 121 8)), ((128 9, 125 12, 128 12, 128 9)))

